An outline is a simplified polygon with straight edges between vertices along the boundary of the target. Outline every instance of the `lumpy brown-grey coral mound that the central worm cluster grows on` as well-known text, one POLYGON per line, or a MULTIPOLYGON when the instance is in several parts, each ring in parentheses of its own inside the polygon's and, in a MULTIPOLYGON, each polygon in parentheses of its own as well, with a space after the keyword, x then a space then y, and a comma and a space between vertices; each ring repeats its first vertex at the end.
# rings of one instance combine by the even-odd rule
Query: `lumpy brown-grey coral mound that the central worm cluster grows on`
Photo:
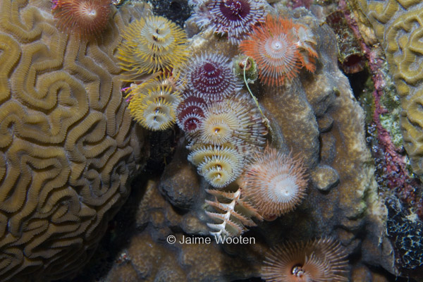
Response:
MULTIPOLYGON (((387 212, 377 195, 374 166, 364 140, 364 111, 338 68, 336 37, 305 9, 280 14, 311 28, 317 39, 317 70, 302 70, 283 87, 265 87, 259 82, 250 86, 270 121, 271 145, 301 157, 307 166, 305 200, 294 212, 275 221, 257 221, 257 227, 243 234, 254 238, 254 243, 216 244, 207 235, 206 223, 211 219, 204 212, 204 200, 209 197, 204 191, 210 186, 183 159, 186 150, 180 142, 161 179, 151 180, 145 188, 137 209, 137 228, 126 251, 128 261, 115 263, 106 281, 131 281, 125 278, 129 274, 145 281, 168 281, 171 277, 166 274, 170 273, 178 281, 258 277, 270 247, 286 240, 322 236, 337 238, 348 254, 365 258, 352 269, 364 269, 369 277, 372 271, 364 264, 395 272, 389 263, 393 262, 389 241, 377 242, 384 237, 387 212), (192 190, 187 188, 192 185, 192 190), (362 235, 368 226, 372 230, 362 235), (174 236, 171 242, 169 236, 174 236), (187 237, 200 243, 180 243, 187 237), (211 242, 204 243, 206 238, 211 242)), ((238 55, 226 37, 209 31, 192 37, 190 49, 192 54, 219 51, 231 58, 238 55)), ((355 271, 349 277, 360 281, 361 276, 355 271)))

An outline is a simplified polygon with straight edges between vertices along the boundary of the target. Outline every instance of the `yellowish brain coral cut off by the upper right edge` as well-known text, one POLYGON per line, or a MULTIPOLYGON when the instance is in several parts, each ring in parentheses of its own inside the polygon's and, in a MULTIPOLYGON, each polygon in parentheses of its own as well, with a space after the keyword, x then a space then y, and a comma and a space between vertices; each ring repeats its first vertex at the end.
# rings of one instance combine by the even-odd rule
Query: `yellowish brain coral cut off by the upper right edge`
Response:
POLYGON ((386 51, 400 94, 404 147, 413 171, 423 176, 423 26, 421 1, 357 1, 386 51))

